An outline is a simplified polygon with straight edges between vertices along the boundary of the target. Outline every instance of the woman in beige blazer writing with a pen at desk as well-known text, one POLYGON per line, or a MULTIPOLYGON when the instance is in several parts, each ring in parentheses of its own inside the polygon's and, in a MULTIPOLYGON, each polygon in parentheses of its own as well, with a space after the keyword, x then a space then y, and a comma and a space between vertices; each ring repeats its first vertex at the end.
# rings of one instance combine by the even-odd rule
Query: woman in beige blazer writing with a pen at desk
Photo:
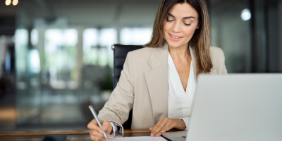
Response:
POLYGON ((196 78, 227 73, 223 51, 210 47, 205 0, 162 0, 152 40, 128 53, 121 78, 99 111, 102 129, 88 124, 92 140, 123 135, 122 124, 133 109, 132 128, 149 128, 151 136, 188 126, 196 78))

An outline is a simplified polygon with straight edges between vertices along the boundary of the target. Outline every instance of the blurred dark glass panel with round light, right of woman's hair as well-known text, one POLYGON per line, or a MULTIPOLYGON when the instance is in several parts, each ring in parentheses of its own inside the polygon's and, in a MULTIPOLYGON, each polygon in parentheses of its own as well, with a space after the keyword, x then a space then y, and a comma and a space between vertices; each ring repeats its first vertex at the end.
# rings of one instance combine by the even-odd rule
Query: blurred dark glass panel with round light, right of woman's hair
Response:
POLYGON ((210 1, 211 44, 223 50, 228 73, 250 73, 249 2, 210 1))

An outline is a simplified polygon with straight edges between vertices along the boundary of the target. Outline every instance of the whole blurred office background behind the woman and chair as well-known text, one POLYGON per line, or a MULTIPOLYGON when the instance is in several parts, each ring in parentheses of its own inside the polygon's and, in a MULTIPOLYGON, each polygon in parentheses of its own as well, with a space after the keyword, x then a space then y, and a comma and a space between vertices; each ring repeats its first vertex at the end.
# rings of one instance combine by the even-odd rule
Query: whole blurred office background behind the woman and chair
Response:
MULTIPOLYGON (((146 44, 161 0, 0 0, 0 131, 87 129, 112 44, 146 44)), ((207 0, 228 73, 282 72, 282 0, 207 0)))

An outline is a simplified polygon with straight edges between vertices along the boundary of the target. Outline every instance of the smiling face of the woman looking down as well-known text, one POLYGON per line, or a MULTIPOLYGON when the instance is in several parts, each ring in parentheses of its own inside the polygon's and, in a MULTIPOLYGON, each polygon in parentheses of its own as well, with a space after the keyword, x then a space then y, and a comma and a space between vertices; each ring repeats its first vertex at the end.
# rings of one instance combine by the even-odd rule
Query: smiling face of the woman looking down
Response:
POLYGON ((175 4, 164 20, 164 38, 169 47, 188 47, 197 27, 197 11, 187 3, 175 4))

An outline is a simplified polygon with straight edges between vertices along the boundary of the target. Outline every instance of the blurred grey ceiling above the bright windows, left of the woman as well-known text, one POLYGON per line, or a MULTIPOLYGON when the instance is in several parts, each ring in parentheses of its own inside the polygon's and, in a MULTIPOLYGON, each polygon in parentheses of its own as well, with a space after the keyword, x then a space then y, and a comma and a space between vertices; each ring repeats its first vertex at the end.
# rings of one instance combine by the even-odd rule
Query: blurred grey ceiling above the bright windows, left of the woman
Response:
POLYGON ((71 26, 151 27, 161 0, 25 0, 17 8, 19 23, 40 17, 67 18, 71 26))

